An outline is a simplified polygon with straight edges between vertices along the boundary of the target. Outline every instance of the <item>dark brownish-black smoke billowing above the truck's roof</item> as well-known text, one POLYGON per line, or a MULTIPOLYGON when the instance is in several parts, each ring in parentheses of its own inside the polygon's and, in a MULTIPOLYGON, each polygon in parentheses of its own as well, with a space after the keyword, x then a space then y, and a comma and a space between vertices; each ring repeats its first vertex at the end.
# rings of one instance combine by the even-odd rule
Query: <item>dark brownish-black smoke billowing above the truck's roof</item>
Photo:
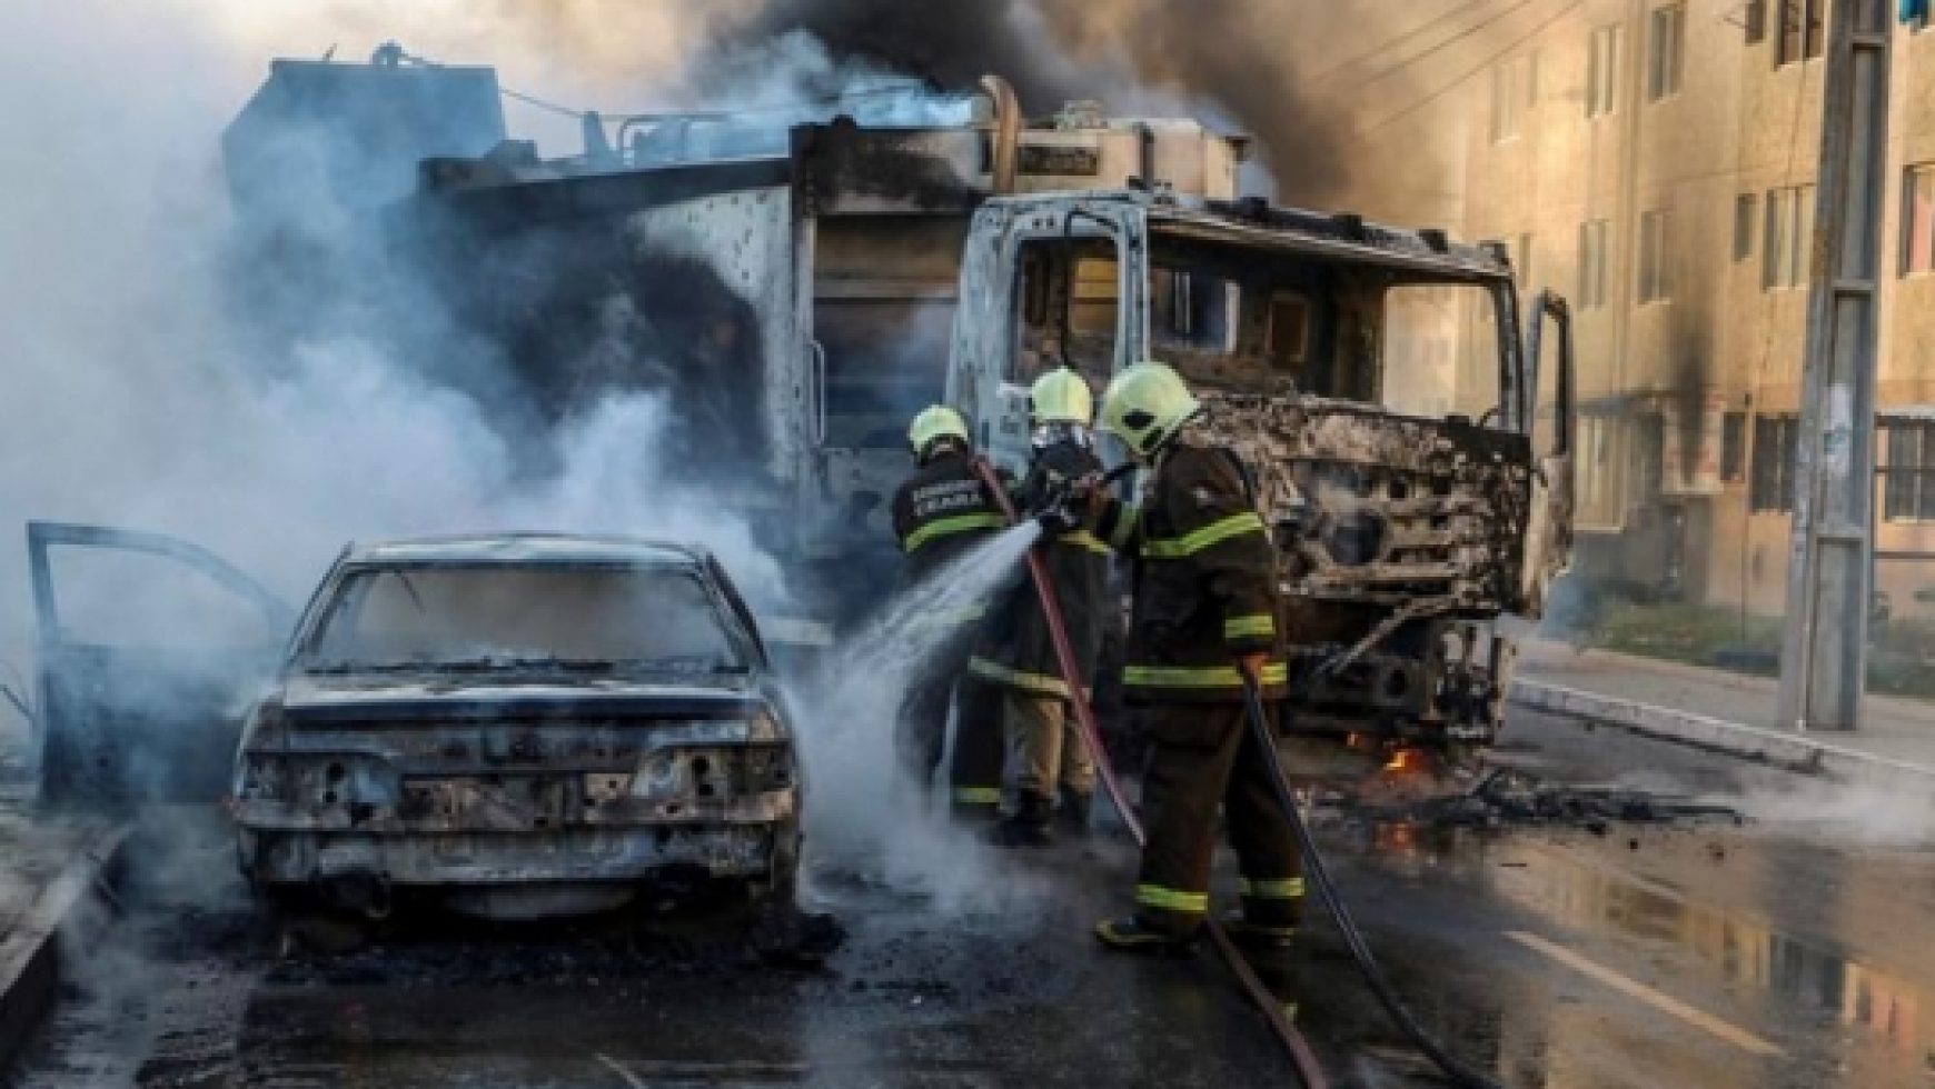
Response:
MULTIPOLYGON (((1364 93, 1391 110, 1436 85, 1418 85, 1407 64, 1366 79, 1349 72, 1358 64, 1339 60, 1378 58, 1382 46, 1444 15, 1444 8, 1395 10, 1366 0, 768 0, 749 19, 726 19, 726 41, 807 31, 834 58, 865 58, 942 87, 993 72, 1016 85, 1033 114, 1070 99, 1099 99, 1118 114, 1198 116, 1254 135, 1279 197, 1362 209, 1366 199, 1397 207, 1403 197, 1440 195, 1430 193, 1438 174, 1430 153, 1447 149, 1385 133, 1382 147, 1409 153, 1407 182, 1393 190, 1380 180, 1378 155, 1358 135, 1364 93), (1366 186, 1393 191, 1380 197, 1366 186)), ((1428 46, 1432 39, 1422 41, 1428 46)), ((1486 48, 1486 37, 1457 44, 1455 56, 1463 56, 1486 48)), ((1407 56, 1438 60, 1414 46, 1407 56)))

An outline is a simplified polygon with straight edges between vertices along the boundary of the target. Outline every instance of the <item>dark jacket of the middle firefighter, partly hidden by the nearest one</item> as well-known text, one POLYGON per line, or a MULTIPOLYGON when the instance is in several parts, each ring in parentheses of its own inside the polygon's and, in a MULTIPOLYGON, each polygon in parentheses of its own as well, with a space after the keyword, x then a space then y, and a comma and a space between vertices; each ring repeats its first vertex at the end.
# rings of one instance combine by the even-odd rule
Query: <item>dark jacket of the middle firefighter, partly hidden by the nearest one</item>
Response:
MULTIPOLYGON (((1024 511, 1039 507, 1041 497, 1058 482, 1072 482, 1101 472, 1101 460, 1082 443, 1060 441, 1043 447, 1027 466, 1027 478, 1016 489, 1016 505, 1024 511)), ((1082 667, 1084 687, 1093 687, 1095 660, 1101 656, 1103 623, 1109 607, 1109 545, 1089 530, 1074 530, 1043 542, 1041 561, 1055 584, 1055 603, 1060 607, 1068 642, 1082 667)), ((995 619, 983 633, 968 671, 1000 687, 1043 696, 1068 698, 1049 621, 1041 613, 1041 598, 1026 574, 1006 586, 995 609, 995 619)))

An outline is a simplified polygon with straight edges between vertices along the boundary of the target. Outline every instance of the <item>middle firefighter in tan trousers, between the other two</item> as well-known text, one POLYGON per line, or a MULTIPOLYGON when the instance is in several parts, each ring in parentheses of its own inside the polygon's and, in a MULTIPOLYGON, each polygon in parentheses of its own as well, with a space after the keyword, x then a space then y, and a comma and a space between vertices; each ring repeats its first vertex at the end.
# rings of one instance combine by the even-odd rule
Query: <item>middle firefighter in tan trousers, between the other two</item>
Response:
MULTIPOLYGON (((1089 437, 1095 397, 1082 375, 1058 368, 1035 379, 1027 391, 1027 412, 1033 456, 1016 497, 1027 511, 1057 509, 1074 482, 1101 472, 1089 437)), ((1035 547, 1041 549, 1086 683, 1095 675, 1101 652, 1109 545, 1078 524, 1064 522, 1058 528, 1035 547)), ((1014 810, 995 828, 995 841, 1045 847, 1053 841, 1051 826, 1057 822, 1074 834, 1086 832, 1095 797, 1095 762, 1068 710, 1074 694, 1062 677, 1031 580, 1022 578, 1008 590, 968 673, 1000 689, 1002 733, 1008 762, 1016 768, 1014 810)), ((1080 696, 1087 698, 1087 692, 1080 696)), ((1000 785, 998 760, 962 768, 964 758, 971 760, 977 752, 956 747, 954 756, 958 785, 977 778, 987 785, 1000 785)))

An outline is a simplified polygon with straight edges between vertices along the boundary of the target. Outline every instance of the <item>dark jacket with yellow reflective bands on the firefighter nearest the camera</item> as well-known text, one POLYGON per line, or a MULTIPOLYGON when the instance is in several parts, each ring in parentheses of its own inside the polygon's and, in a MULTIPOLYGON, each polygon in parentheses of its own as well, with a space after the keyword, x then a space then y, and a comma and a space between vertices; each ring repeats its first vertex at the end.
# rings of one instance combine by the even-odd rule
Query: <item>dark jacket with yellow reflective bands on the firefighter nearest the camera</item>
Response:
POLYGON ((1235 455, 1178 439, 1142 503, 1103 501, 1093 528, 1136 565, 1124 698, 1242 700, 1250 654, 1271 656, 1264 694, 1283 696, 1275 553, 1235 455))

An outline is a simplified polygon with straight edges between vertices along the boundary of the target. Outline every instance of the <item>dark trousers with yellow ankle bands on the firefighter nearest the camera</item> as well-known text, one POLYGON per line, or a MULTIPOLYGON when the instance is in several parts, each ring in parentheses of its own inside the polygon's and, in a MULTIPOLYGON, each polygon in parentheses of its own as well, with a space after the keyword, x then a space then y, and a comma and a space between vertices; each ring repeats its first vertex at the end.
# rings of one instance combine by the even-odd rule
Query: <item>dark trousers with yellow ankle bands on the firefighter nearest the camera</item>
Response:
POLYGON ((1252 741, 1242 704, 1147 704, 1151 741, 1142 787, 1149 841, 1142 849, 1136 917, 1173 934, 1209 911, 1209 865, 1221 807, 1242 872, 1244 917, 1293 930, 1302 917, 1304 859, 1271 789, 1275 752, 1252 741))

